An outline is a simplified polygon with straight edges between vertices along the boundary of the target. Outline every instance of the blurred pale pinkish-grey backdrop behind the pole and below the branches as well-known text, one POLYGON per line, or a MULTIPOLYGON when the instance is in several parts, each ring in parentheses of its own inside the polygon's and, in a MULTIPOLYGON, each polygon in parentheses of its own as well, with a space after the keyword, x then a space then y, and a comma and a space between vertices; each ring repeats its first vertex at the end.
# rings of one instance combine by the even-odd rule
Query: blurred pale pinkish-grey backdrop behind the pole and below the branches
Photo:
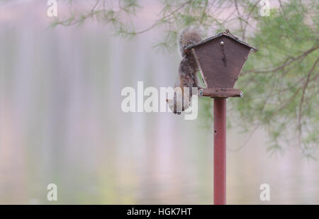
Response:
MULTIPOLYGON (((124 86, 174 84, 178 52, 155 50, 159 30, 50 28, 46 3, 0 4, 0 203, 212 204, 207 118, 121 111, 124 86)), ((140 19, 158 10, 150 3, 140 19)), ((239 130, 228 129, 228 204, 319 204, 317 161, 295 147, 270 156, 265 130, 239 130), (264 183, 271 201, 259 199, 264 183)))

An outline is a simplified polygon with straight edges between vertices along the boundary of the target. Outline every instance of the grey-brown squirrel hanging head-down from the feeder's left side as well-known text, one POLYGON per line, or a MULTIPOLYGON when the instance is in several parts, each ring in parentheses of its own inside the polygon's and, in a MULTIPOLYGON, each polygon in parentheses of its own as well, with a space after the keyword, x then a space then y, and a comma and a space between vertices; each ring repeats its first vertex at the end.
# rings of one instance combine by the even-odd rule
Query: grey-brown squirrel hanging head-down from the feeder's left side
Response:
POLYGON ((175 114, 181 114, 181 111, 189 108, 191 104, 192 87, 198 87, 198 78, 196 73, 198 72, 198 66, 195 57, 185 50, 185 47, 198 43, 201 41, 201 34, 194 28, 184 29, 179 36, 179 52, 183 59, 179 63, 179 75, 177 82, 174 85, 174 97, 173 99, 167 99, 169 108, 175 114), (177 88, 181 88, 181 92, 176 92, 177 88), (184 93, 184 88, 189 88, 189 92, 184 93), (184 98, 183 98, 184 96, 184 98), (178 111, 177 106, 182 106, 178 111))

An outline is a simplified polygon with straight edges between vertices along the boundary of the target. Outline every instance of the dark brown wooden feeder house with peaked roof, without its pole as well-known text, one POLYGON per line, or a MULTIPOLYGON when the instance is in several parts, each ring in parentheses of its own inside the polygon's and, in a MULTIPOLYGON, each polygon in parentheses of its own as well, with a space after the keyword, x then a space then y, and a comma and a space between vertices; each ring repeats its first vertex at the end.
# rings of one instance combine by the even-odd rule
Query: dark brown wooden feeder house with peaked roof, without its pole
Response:
POLYGON ((250 51, 256 52, 256 48, 238 40, 226 30, 185 49, 193 53, 201 71, 206 85, 206 89, 201 91, 203 96, 242 96, 242 91, 233 87, 250 51))

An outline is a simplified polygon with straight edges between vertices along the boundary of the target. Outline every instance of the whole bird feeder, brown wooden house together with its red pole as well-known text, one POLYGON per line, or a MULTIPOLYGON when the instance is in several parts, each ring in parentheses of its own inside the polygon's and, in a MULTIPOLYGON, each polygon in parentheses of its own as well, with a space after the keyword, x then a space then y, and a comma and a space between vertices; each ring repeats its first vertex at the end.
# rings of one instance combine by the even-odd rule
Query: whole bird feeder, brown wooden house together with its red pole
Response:
POLYGON ((229 30, 185 47, 198 64, 205 89, 200 96, 214 99, 214 204, 225 204, 226 194, 226 99, 242 97, 234 89, 250 51, 257 49, 238 40, 229 30))

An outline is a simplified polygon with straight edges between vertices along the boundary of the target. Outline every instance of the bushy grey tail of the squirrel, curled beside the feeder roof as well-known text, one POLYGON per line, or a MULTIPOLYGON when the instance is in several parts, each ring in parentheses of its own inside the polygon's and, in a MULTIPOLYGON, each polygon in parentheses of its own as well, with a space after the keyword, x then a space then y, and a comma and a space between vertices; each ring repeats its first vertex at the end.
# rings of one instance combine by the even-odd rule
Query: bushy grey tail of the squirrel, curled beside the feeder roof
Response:
POLYGON ((186 28, 179 35, 179 52, 181 57, 186 57, 185 47, 201 41, 201 33, 195 28, 186 28))

